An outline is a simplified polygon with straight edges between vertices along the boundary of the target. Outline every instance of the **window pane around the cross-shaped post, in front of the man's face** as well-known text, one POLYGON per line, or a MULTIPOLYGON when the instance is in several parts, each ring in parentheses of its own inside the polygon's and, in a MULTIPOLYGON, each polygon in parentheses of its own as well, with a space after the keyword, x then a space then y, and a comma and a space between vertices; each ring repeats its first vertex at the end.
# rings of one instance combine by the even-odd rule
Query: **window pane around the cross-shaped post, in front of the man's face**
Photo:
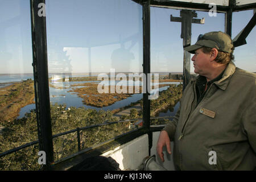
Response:
MULTIPOLYGON (((180 18, 181 10, 151 7, 151 72, 159 73, 159 97, 151 100, 151 125, 168 122, 163 117, 172 117, 179 109, 183 80, 183 39, 181 22, 170 21, 170 16, 180 18), (158 119, 155 119, 155 118, 158 119)), ((204 24, 192 23, 191 44, 199 34, 210 31, 225 31, 225 15, 195 11, 194 19, 205 19, 204 24)), ((192 57, 192 56, 191 56, 192 57)), ((190 72, 193 76, 193 63, 190 72)), ((170 119, 170 118, 169 118, 170 119)))

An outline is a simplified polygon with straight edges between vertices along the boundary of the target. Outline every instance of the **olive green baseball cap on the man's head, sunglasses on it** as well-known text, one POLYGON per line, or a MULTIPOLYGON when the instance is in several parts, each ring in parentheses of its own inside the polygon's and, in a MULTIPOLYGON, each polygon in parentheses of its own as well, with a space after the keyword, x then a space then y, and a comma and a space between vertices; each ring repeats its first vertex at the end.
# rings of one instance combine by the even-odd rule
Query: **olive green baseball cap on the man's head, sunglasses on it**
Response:
POLYGON ((185 47, 185 51, 195 53, 196 49, 201 47, 216 48, 222 52, 233 52, 233 42, 228 34, 224 32, 208 32, 204 35, 200 34, 195 45, 185 47))

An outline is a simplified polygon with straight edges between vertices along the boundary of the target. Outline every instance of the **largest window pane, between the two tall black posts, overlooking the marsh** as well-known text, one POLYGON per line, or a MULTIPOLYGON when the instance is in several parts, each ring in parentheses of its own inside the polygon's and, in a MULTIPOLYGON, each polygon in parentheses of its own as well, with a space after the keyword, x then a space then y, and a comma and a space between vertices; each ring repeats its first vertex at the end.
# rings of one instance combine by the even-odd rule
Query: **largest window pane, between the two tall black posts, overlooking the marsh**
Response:
MULTIPOLYGON (((61 0, 46 1, 46 10, 53 134, 142 118, 142 93, 135 94, 133 88, 129 93, 125 81, 129 73, 142 72, 142 6, 130 0, 61 0)), ((133 123, 127 122, 119 131, 132 130, 133 123)), ((88 147, 83 144, 86 140, 115 137, 113 133, 104 139, 94 135, 94 130, 111 134, 112 129, 81 131, 82 147, 88 147)), ((53 142, 53 148, 59 152, 57 143, 53 142)), ((55 160, 63 156, 55 155, 55 160)))

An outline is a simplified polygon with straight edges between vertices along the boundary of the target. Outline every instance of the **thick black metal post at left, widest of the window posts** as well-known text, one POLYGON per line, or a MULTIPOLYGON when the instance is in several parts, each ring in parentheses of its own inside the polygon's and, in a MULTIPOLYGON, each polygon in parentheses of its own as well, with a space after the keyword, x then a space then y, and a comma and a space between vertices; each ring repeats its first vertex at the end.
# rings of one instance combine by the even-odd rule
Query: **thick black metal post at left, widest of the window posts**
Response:
POLYGON ((43 169, 47 170, 50 169, 50 164, 53 162, 53 143, 49 102, 46 17, 44 16, 45 0, 30 0, 30 11, 39 150, 46 152, 46 165, 43 166, 43 169))

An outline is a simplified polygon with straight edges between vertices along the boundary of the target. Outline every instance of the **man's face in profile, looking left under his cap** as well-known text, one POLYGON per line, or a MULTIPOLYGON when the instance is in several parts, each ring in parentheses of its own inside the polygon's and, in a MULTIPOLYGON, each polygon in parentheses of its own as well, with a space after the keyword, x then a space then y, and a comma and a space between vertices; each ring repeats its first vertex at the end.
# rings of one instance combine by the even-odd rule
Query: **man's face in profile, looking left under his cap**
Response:
POLYGON ((198 73, 201 76, 205 76, 210 71, 210 54, 204 53, 203 48, 197 49, 195 55, 192 57, 194 72, 198 73))

